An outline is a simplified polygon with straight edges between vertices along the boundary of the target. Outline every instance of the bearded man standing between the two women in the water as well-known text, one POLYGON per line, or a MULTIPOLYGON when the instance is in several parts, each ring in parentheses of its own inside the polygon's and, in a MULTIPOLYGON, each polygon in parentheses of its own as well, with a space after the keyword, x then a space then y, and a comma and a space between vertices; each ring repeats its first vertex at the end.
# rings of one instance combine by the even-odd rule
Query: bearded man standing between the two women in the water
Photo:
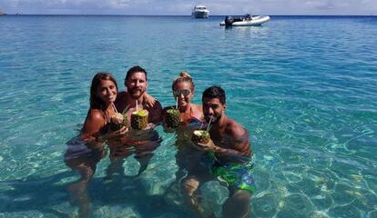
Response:
MULTIPOLYGON (((119 113, 127 111, 127 120, 130 121, 131 114, 138 108, 148 112, 148 126, 152 127, 161 121, 161 104, 149 94, 146 90, 148 87, 147 71, 140 66, 131 67, 126 74, 125 86, 127 92, 117 94, 115 106, 119 113)), ((147 167, 154 151, 161 143, 158 132, 154 128, 147 128, 142 131, 129 131, 127 136, 120 135, 120 138, 113 142, 108 142, 110 148, 111 164, 107 167, 107 179, 112 177, 113 173, 123 174, 124 160, 131 154, 140 163, 137 176, 143 173, 147 167)))

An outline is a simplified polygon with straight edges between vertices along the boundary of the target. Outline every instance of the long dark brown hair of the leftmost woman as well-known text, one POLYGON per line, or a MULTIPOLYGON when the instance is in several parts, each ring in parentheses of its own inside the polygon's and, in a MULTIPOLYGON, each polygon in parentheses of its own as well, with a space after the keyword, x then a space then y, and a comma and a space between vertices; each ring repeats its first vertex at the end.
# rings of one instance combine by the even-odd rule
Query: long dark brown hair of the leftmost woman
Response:
POLYGON ((117 81, 113 74, 110 73, 97 73, 92 80, 92 85, 90 86, 90 109, 100 109, 105 110, 105 103, 97 96, 97 89, 101 80, 110 80, 117 87, 117 81))

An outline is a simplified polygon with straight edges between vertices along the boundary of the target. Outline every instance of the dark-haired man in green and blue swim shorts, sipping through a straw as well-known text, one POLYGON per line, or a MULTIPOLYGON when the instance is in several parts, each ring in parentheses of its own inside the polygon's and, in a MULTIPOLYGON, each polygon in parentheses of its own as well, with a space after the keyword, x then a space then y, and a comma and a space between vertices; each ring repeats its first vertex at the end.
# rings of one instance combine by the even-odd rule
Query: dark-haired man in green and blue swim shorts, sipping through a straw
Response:
MULTIPOLYGON (((225 91, 219 86, 206 89, 202 96, 204 118, 209 123, 208 144, 195 144, 205 154, 200 162, 208 167, 208 174, 192 173, 182 181, 185 201, 203 216, 208 216, 200 203, 200 186, 219 179, 229 189, 223 204, 223 217, 250 217, 250 198, 255 190, 251 174, 252 151, 248 131, 225 114, 225 91)), ((199 167, 198 167, 199 168, 199 167)))

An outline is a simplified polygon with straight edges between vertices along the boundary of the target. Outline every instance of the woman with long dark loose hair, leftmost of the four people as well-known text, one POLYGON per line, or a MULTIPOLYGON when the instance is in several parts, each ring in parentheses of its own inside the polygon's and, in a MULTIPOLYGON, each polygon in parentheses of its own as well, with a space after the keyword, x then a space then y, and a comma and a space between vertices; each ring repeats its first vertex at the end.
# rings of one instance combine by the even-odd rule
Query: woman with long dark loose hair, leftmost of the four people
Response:
POLYGON ((116 132, 109 130, 110 117, 117 113, 114 102, 117 99, 117 81, 112 74, 97 73, 90 86, 90 107, 80 135, 66 145, 64 161, 66 166, 80 173, 77 181, 68 184, 67 191, 78 204, 80 217, 89 214, 87 183, 96 172, 97 163, 106 156, 102 140, 110 139, 127 131, 122 127, 116 132))

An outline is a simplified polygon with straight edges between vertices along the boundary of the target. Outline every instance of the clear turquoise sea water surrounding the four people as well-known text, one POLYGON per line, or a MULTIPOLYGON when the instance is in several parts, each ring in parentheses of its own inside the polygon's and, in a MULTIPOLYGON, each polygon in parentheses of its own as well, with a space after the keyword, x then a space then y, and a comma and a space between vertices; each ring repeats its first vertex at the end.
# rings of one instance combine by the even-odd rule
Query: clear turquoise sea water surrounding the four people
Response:
MULTIPOLYGON (((377 18, 278 16, 230 29, 221 19, 0 17, 0 215, 77 213, 66 190, 79 175, 63 159, 91 78, 112 72, 123 89, 139 64, 165 106, 180 71, 194 77, 196 103, 206 87, 225 88, 227 113, 252 135, 254 217, 377 217, 377 18)), ((157 130, 163 141, 137 180, 108 183, 108 151, 97 163, 91 216, 192 216, 167 191, 178 170, 174 134, 157 130)), ((138 173, 132 156, 123 166, 138 173)), ((225 196, 218 183, 205 190, 225 196)))

